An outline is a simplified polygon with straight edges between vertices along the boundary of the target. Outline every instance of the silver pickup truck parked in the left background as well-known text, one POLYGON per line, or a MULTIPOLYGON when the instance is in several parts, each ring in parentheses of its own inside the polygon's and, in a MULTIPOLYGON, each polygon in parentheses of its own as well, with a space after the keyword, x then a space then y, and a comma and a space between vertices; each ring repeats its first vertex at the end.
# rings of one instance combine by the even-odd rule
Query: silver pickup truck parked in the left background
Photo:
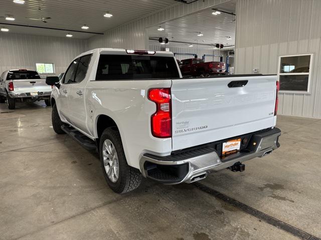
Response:
POLYGON ((7 100, 9 109, 16 108, 16 101, 34 102, 45 100, 50 106, 51 86, 41 79, 37 71, 14 69, 0 75, 0 102, 7 100))

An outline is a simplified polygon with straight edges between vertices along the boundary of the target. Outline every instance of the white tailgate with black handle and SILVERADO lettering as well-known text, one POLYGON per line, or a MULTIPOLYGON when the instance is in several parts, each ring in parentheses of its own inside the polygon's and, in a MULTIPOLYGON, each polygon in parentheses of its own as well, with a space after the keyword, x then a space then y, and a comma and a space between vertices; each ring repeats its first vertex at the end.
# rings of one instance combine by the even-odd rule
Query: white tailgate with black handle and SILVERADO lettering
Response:
POLYGON ((173 150, 272 127, 276 76, 172 80, 173 150), (244 86, 228 84, 248 82, 244 86))

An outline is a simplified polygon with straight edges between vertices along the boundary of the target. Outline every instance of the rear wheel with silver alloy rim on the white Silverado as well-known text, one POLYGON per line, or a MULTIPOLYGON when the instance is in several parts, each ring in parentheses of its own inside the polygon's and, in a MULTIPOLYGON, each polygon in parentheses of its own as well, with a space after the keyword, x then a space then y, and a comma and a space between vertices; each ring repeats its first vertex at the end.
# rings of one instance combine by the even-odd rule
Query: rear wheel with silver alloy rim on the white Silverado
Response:
POLYGON ((138 169, 127 164, 119 131, 106 128, 99 142, 99 154, 104 177, 116 193, 134 190, 141 182, 138 169))

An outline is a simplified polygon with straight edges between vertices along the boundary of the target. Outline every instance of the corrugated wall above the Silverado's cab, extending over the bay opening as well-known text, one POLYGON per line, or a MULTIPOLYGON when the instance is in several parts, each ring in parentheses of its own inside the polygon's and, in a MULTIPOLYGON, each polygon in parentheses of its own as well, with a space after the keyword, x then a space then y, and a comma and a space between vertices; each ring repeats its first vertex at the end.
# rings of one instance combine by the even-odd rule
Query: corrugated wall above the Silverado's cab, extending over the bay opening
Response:
POLYGON ((146 17, 106 31, 104 35, 96 35, 89 39, 89 48, 119 47, 145 49, 148 39, 145 36, 145 27, 164 21, 178 18, 204 8, 226 2, 228 0, 199 0, 190 4, 179 4, 163 11, 150 14, 146 17))

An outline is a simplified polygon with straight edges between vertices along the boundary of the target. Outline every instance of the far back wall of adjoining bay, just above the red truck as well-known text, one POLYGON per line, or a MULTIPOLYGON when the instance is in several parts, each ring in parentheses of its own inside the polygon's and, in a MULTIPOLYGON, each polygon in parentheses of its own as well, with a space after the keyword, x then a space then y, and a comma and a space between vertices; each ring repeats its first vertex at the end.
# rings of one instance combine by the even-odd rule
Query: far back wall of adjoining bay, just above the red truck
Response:
MULTIPOLYGON (((202 58, 204 54, 211 55, 221 55, 222 52, 220 50, 210 50, 210 49, 198 49, 191 47, 171 47, 169 46, 170 51, 178 52, 178 53, 194 53, 197 54, 199 58, 202 58)), ((149 50, 161 51, 160 45, 149 45, 149 50)), ((176 59, 183 60, 187 58, 193 58, 193 55, 177 55, 176 59)), ((219 61, 220 57, 218 56, 205 56, 205 61, 219 61)))

